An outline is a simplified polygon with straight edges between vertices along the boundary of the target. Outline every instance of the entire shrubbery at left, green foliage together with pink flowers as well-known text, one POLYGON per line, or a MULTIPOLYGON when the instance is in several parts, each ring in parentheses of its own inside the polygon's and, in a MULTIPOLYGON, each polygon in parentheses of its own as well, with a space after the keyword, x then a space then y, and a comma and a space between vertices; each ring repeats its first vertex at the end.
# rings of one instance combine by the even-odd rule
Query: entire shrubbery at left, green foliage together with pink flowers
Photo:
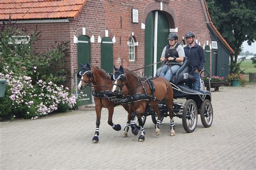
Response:
POLYGON ((3 23, 0 78, 6 79, 6 90, 0 98, 0 117, 37 118, 77 105, 76 97, 62 85, 69 75, 64 60, 68 42, 55 42, 48 53, 33 54, 32 45, 39 36, 38 31, 28 33, 10 20, 3 23), (27 34, 29 38, 24 37, 27 34))

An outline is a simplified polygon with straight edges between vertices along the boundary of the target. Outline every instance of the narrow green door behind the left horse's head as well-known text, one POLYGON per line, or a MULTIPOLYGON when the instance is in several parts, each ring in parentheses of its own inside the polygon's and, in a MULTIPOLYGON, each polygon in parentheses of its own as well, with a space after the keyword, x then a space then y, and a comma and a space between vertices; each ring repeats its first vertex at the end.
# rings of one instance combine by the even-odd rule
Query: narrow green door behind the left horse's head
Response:
MULTIPOLYGON (((77 45, 77 60, 78 60, 78 71, 81 69, 79 63, 85 65, 86 63, 90 62, 90 39, 87 36, 79 36, 78 37, 78 45, 77 45)), ((78 79, 78 82, 80 79, 78 79)), ((79 92, 80 93, 80 90, 79 92)), ((91 103, 91 87, 86 87, 83 90, 85 94, 80 100, 82 104, 89 104, 91 103)))

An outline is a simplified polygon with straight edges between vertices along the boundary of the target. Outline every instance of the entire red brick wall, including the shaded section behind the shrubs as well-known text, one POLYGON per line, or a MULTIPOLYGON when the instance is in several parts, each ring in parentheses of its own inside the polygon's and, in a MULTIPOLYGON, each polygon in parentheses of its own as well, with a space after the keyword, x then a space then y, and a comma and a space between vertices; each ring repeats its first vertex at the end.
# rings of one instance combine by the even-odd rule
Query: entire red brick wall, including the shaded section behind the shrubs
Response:
MULTIPOLYGON (((109 30, 110 36, 116 37, 113 45, 113 63, 118 58, 122 58, 123 66, 128 69, 136 69, 144 66, 144 33, 142 23, 145 24, 147 13, 152 10, 160 10, 160 2, 146 0, 111 1, 111 0, 87 0, 84 8, 78 17, 70 20, 70 23, 42 23, 25 24, 29 30, 41 31, 41 37, 36 42, 37 52, 46 52, 47 47, 51 47, 55 41, 70 41, 70 54, 67 56, 68 68, 71 70, 71 80, 66 86, 75 86, 74 70, 77 69, 77 44, 73 42, 74 35, 79 37, 86 30, 86 36, 95 37, 95 42, 91 43, 91 64, 100 66, 100 43, 98 36, 104 37, 104 31, 109 30), (132 8, 139 10, 139 23, 132 23, 132 8), (138 41, 136 46, 135 61, 129 62, 129 52, 127 41, 134 33, 134 38, 138 41)), ((210 33, 206 26, 203 9, 200 0, 181 1, 170 0, 163 2, 163 11, 166 12, 170 20, 171 28, 178 27, 179 41, 187 31, 194 31, 196 39, 201 46, 210 41, 210 33), (172 17, 171 17, 172 16, 172 17)), ((102 37, 102 38, 103 38, 102 37)), ((140 73, 138 71, 138 73, 140 73)))

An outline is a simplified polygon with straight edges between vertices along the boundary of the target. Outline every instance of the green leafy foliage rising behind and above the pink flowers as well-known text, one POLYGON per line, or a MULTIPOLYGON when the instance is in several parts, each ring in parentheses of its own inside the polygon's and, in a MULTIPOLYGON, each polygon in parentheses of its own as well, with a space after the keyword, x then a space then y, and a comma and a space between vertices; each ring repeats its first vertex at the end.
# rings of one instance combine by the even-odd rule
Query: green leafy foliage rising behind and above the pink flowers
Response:
POLYGON ((15 75, 31 76, 33 83, 42 79, 58 85, 64 84, 69 78, 69 70, 66 68, 68 61, 65 60, 69 42, 55 42, 47 53, 35 54, 31 49, 39 36, 40 32, 28 33, 25 27, 11 20, 4 22, 0 30, 0 73, 7 65, 15 75), (28 34, 29 38, 25 36, 26 42, 21 41, 28 34))

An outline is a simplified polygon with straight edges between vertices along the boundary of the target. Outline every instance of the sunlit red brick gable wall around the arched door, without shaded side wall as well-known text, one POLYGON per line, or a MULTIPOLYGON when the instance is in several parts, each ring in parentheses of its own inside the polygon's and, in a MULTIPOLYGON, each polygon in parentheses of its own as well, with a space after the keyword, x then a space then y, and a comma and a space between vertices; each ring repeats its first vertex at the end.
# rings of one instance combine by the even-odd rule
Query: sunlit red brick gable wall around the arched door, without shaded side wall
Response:
MULTIPOLYGON (((79 16, 71 22, 72 34, 79 28, 85 27, 95 36, 95 43, 91 44, 91 63, 100 66, 100 44, 98 35, 109 30, 115 36, 113 45, 113 63, 120 65, 118 59, 123 60, 123 66, 129 69, 140 68, 144 65, 144 33, 141 28, 145 24, 147 14, 152 10, 160 10, 160 2, 156 1, 87 1, 79 16), (139 10, 139 23, 133 24, 131 17, 132 8, 139 10), (129 62, 127 41, 134 33, 134 38, 139 42, 136 46, 135 61, 129 62)), ((189 30, 194 31, 196 39, 203 46, 210 40, 210 33, 206 26, 203 8, 199 0, 194 1, 169 1, 163 3, 163 11, 167 12, 171 28, 178 27, 179 41, 189 30), (172 17, 171 17, 172 16, 172 17)), ((87 31, 86 31, 87 33, 87 31)), ((79 35, 77 35, 79 36, 79 35)), ((88 35, 86 35, 88 36, 88 35)), ((90 37, 90 36, 89 36, 90 37)), ((112 38, 112 37, 111 37, 112 38)), ((77 44, 72 45, 72 67, 77 68, 77 44)), ((138 71, 138 73, 140 73, 138 71)))

